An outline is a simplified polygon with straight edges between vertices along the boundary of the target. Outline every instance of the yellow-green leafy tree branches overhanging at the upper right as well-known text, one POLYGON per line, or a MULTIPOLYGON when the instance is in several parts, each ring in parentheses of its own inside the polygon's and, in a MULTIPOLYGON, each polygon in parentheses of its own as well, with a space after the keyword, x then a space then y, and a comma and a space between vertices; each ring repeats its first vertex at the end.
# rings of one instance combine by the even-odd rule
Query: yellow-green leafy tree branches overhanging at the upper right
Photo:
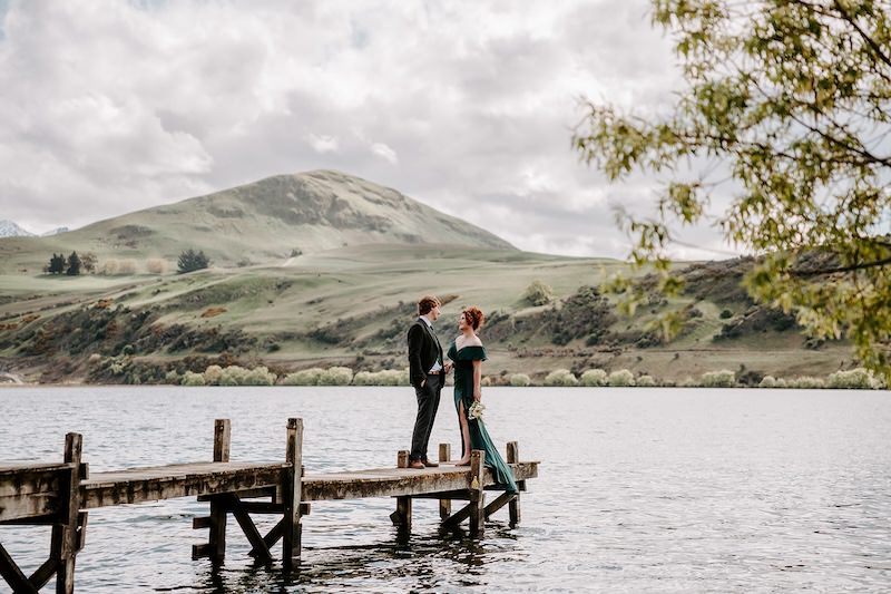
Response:
POLYGON ((753 296, 794 311, 813 335, 849 337, 866 367, 891 376, 891 4, 653 6, 687 89, 672 114, 649 119, 590 104, 589 129, 574 137, 610 179, 665 182, 654 218, 619 215, 633 260, 678 291, 670 228, 713 223, 761 256, 746 277, 753 296), (708 214, 722 192, 732 202, 708 214))

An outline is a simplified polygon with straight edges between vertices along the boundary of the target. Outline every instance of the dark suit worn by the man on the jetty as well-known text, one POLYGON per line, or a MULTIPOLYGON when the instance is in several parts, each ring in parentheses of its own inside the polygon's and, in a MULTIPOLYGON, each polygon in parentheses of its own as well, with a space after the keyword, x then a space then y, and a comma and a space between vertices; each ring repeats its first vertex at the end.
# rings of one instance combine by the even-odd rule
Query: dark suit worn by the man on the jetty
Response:
POLYGON ((437 362, 442 366, 442 347, 433 329, 418 318, 409 328, 409 377, 418 397, 418 417, 414 420, 409 455, 411 460, 427 460, 427 446, 437 418, 444 379, 441 371, 429 373, 437 362))

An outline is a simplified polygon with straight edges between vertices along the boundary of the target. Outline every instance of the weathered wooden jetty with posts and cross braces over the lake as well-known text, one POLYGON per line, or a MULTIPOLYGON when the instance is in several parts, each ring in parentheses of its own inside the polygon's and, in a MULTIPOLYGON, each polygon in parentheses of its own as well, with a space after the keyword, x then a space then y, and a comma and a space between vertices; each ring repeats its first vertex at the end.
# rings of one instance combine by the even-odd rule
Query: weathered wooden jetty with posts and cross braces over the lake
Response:
MULTIPOLYGON (((290 571, 300 559, 301 518, 311 502, 394 497, 390 515, 400 530, 411 529, 412 499, 439 499, 442 526, 453 528, 469 520, 470 535, 483 535, 483 520, 508 506, 511 525, 520 520, 519 495, 501 494, 488 505, 484 490, 493 485, 484 466, 484 454, 473 451, 469 467, 442 465, 415 470, 408 468, 408 451, 396 456, 395 468, 345 473, 306 474, 302 465, 303 420, 288 419, 285 461, 229 461, 231 423, 217 419, 214 457, 210 462, 175 464, 130 468, 90 475, 81 461, 82 437, 68 434, 60 464, 0 462, 0 525, 45 525, 52 530, 49 558, 33 574, 25 575, 0 542, 0 575, 17 593, 36 593, 52 576, 56 592, 75 588, 75 561, 84 548, 90 509, 138 504, 176 497, 197 497, 209 503, 209 515, 193 518, 193 528, 209 529, 206 544, 193 546, 193 557, 221 562, 226 554, 226 523, 232 515, 252 545, 251 555, 273 559, 271 548, 282 541, 282 562, 290 571), (467 502, 452 513, 452 502, 467 502), (265 535, 251 514, 281 516, 265 535)), ((449 461, 450 446, 439 447, 440 461, 449 461)), ((538 476, 537 461, 519 461, 517 442, 508 444, 507 461, 517 485, 538 476)), ((1 535, 0 535, 1 536, 1 535)))

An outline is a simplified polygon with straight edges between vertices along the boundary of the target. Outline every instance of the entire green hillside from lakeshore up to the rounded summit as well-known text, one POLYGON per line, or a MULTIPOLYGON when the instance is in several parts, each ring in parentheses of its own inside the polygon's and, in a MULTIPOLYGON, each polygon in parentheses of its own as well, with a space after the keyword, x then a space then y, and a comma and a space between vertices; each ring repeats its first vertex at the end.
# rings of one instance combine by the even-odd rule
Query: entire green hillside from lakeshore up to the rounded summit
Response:
POLYGON ((486 373, 496 382, 517 372, 540 381, 559 368, 669 382, 728 369, 757 382, 855 364, 850 345, 809 341, 793 318, 755 305, 740 286, 748 261, 684 264, 685 294, 654 294, 631 319, 595 289, 624 266, 521 252, 342 173, 275 176, 51 237, 0 240, 0 374, 143 383, 212 363, 280 374, 401 369, 405 329, 427 293, 444 301, 447 343, 461 306, 487 312, 486 373), (175 274, 188 247, 213 266, 175 274), (51 253, 74 250, 92 252, 106 273, 41 272, 51 253), (550 303, 526 301, 533 281, 552 288, 550 303), (666 343, 648 324, 668 308, 683 308, 686 321, 666 343))

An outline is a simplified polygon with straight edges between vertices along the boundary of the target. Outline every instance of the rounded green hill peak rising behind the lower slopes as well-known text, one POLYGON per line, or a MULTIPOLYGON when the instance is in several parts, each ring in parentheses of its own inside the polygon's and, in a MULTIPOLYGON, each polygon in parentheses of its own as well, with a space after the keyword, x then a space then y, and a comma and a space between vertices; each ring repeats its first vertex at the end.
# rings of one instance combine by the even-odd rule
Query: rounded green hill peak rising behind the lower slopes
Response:
POLYGON ((400 194, 340 172, 277 175, 50 237, 0 238, 0 274, 42 270, 53 253, 94 253, 102 269, 149 260, 175 270, 186 249, 217 266, 278 264, 345 246, 456 244, 511 250, 503 240, 400 194))

